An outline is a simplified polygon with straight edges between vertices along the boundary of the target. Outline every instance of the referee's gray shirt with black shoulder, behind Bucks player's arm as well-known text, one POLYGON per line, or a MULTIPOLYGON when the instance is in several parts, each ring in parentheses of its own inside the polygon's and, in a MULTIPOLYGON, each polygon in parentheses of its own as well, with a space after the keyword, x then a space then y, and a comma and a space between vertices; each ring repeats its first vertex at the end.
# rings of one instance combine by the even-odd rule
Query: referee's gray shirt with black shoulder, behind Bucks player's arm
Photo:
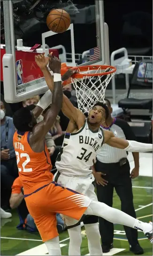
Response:
MULTIPOLYGON (((109 127, 101 126, 101 128, 113 132, 116 137, 121 139, 136 140, 130 125, 122 119, 115 118, 109 127)), ((127 152, 125 150, 114 148, 107 144, 103 144, 97 154, 97 159, 102 163, 117 163, 126 157, 127 152)))

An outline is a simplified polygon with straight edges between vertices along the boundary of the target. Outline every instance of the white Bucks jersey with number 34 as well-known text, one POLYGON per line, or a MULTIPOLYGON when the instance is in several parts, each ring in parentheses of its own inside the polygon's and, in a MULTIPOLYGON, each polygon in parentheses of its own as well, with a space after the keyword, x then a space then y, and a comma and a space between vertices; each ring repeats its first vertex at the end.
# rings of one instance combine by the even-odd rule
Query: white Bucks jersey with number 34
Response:
POLYGON ((88 175, 92 171, 93 159, 104 141, 102 128, 92 131, 85 120, 76 133, 65 133, 63 144, 56 159, 56 168, 67 176, 88 175))

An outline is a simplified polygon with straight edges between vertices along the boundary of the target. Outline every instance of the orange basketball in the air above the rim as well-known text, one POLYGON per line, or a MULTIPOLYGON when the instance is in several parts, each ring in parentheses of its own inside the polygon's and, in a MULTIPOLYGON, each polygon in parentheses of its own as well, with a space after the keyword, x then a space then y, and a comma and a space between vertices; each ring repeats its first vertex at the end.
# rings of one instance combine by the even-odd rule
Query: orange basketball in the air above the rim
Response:
POLYGON ((46 24, 49 30, 62 33, 69 28, 70 21, 69 13, 62 9, 54 9, 48 14, 46 24))

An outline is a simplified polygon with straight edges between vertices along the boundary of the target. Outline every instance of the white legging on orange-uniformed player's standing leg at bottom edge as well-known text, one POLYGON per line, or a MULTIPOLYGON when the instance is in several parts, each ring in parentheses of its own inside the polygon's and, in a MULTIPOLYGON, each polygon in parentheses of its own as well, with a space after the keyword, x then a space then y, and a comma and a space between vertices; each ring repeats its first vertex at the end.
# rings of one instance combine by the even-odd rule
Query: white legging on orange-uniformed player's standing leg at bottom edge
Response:
POLYGON ((61 256, 59 236, 54 237, 53 239, 50 239, 50 240, 46 241, 45 244, 46 244, 46 247, 48 249, 48 255, 61 256))

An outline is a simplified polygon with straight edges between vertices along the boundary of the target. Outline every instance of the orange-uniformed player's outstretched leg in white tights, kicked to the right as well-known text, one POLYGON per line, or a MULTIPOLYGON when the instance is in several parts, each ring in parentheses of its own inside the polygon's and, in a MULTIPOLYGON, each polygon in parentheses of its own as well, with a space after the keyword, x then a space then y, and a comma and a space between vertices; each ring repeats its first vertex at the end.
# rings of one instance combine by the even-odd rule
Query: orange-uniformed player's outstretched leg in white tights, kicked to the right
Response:
MULTIPOLYGON (((56 191, 57 185, 58 184, 55 184, 56 191)), ((68 188, 63 188, 62 190, 64 191, 61 192, 61 188, 58 189, 61 197, 60 206, 62 206, 62 209, 59 211, 56 206, 57 212, 75 219, 80 219, 81 213, 85 215, 96 215, 115 224, 122 224, 131 228, 139 229, 145 233, 151 242, 153 242, 153 228, 151 223, 139 221, 118 209, 109 207, 104 203, 90 200, 87 196, 78 194, 75 191, 69 191, 68 188)))

